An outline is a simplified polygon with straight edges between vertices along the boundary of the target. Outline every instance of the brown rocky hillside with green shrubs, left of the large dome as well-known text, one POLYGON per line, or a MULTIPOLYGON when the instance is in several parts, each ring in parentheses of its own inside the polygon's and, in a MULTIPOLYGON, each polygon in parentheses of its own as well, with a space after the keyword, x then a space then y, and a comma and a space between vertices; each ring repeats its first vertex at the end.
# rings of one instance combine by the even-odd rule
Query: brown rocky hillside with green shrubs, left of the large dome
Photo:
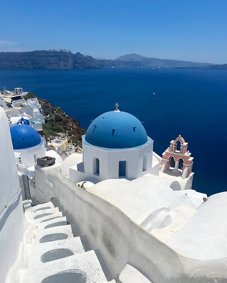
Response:
MULTIPOLYGON (((50 102, 37 97, 44 110, 44 115, 48 115, 47 123, 43 125, 44 135, 48 136, 55 132, 55 135, 61 138, 68 138, 82 146, 81 135, 86 133, 84 128, 81 128, 79 122, 68 116, 61 108, 54 107, 50 102)), ((53 135, 53 134, 52 134, 53 135)))

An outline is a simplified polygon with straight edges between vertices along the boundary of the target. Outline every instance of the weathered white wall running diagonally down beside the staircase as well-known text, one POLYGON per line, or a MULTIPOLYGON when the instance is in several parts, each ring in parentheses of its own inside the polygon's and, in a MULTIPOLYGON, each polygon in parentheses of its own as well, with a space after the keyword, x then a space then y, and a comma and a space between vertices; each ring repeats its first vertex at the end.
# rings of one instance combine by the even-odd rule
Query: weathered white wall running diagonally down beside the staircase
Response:
POLYGON ((81 234, 87 236, 91 248, 100 251, 113 277, 119 275, 128 263, 153 283, 224 282, 226 258, 198 262, 180 256, 136 225, 116 206, 81 189, 53 167, 39 170, 42 199, 45 202, 58 199, 78 224, 81 234), (223 268, 217 273, 216 266, 219 265, 223 268))

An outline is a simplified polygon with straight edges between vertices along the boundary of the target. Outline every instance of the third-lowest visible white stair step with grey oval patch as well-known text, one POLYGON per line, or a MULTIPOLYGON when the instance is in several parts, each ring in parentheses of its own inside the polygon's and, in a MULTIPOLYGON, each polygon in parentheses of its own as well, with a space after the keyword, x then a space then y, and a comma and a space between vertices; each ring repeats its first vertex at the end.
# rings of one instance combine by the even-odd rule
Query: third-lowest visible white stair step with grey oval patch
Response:
POLYGON ((27 243, 45 243, 57 240, 73 238, 71 225, 57 226, 44 230, 33 230, 33 235, 27 243))

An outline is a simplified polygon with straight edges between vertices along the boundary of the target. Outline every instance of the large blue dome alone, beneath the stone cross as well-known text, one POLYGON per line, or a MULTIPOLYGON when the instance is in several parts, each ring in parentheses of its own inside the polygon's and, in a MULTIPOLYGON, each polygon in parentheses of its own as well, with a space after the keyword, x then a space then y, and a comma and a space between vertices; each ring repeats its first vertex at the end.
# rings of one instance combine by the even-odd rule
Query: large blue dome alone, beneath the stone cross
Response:
POLYGON ((135 116, 110 111, 98 116, 90 124, 85 140, 102 148, 133 148, 145 144, 147 135, 135 116))

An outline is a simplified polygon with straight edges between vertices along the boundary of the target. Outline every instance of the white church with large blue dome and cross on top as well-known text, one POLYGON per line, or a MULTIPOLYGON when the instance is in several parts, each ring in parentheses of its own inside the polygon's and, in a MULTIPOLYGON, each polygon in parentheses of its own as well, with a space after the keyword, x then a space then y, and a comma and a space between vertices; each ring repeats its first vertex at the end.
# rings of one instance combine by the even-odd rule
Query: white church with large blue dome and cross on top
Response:
POLYGON ((69 170, 74 183, 131 180, 152 173, 153 140, 135 116, 115 106, 92 121, 82 136, 83 161, 69 170))

